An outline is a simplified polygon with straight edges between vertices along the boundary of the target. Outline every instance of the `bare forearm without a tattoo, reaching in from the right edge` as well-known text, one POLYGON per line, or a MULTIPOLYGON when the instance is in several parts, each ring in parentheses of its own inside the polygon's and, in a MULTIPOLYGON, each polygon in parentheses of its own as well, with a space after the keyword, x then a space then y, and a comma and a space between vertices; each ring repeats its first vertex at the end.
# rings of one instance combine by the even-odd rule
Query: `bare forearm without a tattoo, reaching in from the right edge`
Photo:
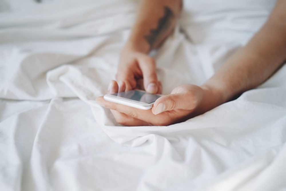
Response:
POLYGON ((261 30, 202 86, 218 96, 217 105, 260 85, 286 61, 285 9, 280 1, 261 30))

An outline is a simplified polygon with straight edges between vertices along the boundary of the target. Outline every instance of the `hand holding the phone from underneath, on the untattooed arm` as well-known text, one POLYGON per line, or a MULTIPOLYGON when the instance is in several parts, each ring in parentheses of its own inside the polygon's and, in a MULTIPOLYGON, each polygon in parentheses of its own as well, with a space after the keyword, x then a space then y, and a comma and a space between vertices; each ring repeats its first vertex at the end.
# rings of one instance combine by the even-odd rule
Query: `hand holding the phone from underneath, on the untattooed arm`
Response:
POLYGON ((108 102, 102 96, 96 98, 96 101, 120 113, 114 117, 118 123, 125 126, 167 126, 190 119, 221 104, 219 93, 208 87, 196 85, 176 87, 171 94, 156 100, 150 110, 108 102))

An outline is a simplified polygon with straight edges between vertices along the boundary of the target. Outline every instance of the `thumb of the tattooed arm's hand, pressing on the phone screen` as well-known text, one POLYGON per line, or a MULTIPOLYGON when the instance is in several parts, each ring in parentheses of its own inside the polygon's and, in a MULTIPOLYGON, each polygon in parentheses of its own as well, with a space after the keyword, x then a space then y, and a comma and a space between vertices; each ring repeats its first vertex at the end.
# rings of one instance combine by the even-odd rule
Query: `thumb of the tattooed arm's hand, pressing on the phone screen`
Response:
POLYGON ((157 93, 159 89, 159 83, 156 74, 156 62, 152 57, 148 55, 140 55, 138 58, 138 64, 143 74, 144 88, 148 93, 157 93))

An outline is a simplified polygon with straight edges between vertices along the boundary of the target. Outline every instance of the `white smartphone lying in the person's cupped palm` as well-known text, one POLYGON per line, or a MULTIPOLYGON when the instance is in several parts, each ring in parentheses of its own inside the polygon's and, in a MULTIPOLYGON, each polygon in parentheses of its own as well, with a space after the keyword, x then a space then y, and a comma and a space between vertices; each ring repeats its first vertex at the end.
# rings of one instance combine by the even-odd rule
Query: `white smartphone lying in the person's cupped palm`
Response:
POLYGON ((119 93, 106 94, 103 99, 109 102, 138 108, 141 110, 151 109, 154 102, 160 98, 160 94, 147 93, 143 90, 130 90, 119 93))

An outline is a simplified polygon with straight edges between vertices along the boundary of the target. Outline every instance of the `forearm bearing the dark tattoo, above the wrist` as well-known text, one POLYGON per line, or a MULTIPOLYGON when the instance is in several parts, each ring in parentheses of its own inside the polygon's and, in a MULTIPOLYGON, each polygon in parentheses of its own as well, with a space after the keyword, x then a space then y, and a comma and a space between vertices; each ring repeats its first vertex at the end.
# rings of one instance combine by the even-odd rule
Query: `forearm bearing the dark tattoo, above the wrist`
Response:
POLYGON ((143 0, 126 47, 148 53, 172 32, 181 0, 143 0))

